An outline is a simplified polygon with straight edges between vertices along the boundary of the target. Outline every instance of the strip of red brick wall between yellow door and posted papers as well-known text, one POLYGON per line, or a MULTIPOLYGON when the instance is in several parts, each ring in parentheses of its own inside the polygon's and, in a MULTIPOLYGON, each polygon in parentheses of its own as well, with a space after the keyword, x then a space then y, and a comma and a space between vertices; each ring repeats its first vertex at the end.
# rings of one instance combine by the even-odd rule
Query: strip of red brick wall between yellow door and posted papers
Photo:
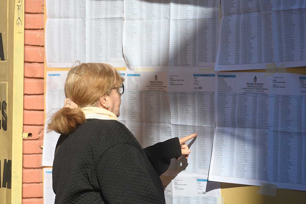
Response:
POLYGON ((24 116, 22 203, 42 204, 42 149, 44 123, 44 0, 24 1, 24 116))

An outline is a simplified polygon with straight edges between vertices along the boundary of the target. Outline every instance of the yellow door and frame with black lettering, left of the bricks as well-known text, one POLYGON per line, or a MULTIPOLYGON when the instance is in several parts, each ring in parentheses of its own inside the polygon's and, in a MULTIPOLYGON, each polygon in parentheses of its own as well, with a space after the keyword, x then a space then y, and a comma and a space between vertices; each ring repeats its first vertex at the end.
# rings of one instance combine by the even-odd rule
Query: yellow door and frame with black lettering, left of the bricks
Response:
POLYGON ((21 203, 24 0, 0 0, 0 203, 21 203), (1 42, 1 41, 0 41, 1 42))

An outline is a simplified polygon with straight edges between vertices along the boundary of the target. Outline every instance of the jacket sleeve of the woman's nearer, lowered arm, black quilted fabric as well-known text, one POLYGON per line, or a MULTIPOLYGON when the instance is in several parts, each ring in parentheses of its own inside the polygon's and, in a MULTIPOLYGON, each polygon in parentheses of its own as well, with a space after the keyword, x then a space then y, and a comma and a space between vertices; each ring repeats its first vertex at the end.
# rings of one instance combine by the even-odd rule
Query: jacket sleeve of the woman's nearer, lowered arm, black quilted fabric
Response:
POLYGON ((162 203, 144 156, 132 145, 106 150, 97 165, 97 179, 105 203, 162 203))

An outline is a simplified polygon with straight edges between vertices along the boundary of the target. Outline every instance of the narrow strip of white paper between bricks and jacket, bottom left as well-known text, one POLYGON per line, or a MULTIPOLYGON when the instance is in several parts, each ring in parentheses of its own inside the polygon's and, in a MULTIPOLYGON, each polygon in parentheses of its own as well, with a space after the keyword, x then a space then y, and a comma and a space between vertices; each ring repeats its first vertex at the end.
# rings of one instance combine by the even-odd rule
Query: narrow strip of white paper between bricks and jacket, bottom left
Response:
POLYGON ((43 203, 54 204, 55 194, 52 188, 52 168, 43 168, 43 203))

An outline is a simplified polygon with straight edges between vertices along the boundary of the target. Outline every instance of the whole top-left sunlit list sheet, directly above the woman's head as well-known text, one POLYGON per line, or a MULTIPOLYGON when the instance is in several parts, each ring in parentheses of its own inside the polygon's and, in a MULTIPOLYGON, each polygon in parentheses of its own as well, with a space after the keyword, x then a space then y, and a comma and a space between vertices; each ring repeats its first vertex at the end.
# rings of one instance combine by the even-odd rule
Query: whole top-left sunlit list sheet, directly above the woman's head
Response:
POLYGON ((47 67, 105 62, 125 67, 122 53, 123 0, 47 0, 47 67))

